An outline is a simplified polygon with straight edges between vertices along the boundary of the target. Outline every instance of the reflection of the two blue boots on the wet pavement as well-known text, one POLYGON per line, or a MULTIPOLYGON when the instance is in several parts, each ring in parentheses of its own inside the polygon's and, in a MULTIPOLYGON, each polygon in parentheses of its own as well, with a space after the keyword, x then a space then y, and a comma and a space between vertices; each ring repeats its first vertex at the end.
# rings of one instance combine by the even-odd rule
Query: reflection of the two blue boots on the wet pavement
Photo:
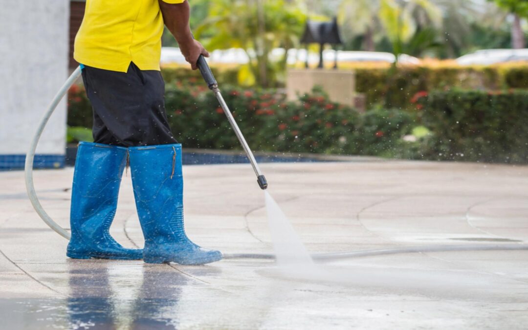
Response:
POLYGON ((167 265, 73 261, 67 299, 76 329, 176 329, 188 278, 167 265))

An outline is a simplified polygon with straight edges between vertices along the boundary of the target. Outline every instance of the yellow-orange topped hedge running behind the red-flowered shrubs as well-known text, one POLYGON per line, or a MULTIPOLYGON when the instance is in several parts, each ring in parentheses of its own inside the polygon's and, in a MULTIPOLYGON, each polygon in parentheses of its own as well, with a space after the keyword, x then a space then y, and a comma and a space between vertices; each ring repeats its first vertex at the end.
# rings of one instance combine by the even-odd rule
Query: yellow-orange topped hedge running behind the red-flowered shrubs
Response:
MULTIPOLYGON (((367 108, 409 109, 410 99, 419 91, 451 88, 476 90, 528 89, 528 66, 520 64, 458 67, 404 66, 393 71, 383 68, 350 68, 356 72, 356 91, 366 97, 367 108)), ((213 67, 221 86, 238 84, 237 67, 213 67)), ((165 67, 162 74, 167 84, 201 86, 199 71, 183 67, 165 67)))

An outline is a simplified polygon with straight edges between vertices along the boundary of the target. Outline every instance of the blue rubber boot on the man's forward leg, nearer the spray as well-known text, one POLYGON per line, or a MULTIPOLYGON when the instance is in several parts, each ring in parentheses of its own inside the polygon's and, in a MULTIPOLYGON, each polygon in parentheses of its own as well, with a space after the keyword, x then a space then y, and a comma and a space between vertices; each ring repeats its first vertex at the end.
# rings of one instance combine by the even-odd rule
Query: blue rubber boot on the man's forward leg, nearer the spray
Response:
POLYGON ((145 236, 143 260, 203 265, 222 253, 194 244, 183 225, 182 145, 130 147, 130 172, 139 222, 145 236))

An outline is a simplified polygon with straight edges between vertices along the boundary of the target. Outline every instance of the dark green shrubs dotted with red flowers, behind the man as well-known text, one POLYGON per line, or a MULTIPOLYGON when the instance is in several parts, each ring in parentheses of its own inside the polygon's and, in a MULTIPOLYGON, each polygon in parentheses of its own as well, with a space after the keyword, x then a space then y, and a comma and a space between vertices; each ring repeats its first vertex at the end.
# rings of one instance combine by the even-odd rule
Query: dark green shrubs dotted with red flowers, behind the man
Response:
MULTIPOLYGON (((383 155, 411 122, 399 110, 357 114, 328 100, 320 89, 296 101, 277 90, 227 87, 222 95, 254 150, 383 155)), ((165 108, 176 139, 186 147, 240 149, 218 100, 203 84, 166 84, 165 108)), ((69 91, 68 125, 91 128, 92 113, 82 87, 69 91)))

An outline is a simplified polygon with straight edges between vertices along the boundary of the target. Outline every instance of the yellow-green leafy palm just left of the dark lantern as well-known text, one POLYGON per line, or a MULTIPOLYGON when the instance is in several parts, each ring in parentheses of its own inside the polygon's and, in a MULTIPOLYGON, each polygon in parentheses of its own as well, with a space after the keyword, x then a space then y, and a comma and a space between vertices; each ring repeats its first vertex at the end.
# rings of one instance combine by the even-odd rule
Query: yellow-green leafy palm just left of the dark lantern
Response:
MULTIPOLYGON (((305 21, 306 15, 291 0, 215 0, 196 35, 209 32, 205 45, 210 50, 244 49, 253 76, 260 86, 268 87, 273 75, 270 51, 297 45, 305 21)), ((285 70, 286 60, 280 64, 285 70)))

